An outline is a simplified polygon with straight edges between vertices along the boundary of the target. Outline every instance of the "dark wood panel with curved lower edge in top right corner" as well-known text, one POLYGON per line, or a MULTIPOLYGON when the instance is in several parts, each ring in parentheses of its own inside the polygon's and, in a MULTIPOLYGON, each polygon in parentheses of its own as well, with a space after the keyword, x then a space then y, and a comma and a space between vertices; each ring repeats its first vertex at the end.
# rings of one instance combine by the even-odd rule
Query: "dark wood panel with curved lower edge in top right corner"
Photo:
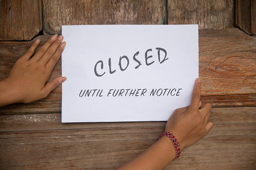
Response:
POLYGON ((235 25, 249 35, 256 35, 256 1, 235 0, 235 25))

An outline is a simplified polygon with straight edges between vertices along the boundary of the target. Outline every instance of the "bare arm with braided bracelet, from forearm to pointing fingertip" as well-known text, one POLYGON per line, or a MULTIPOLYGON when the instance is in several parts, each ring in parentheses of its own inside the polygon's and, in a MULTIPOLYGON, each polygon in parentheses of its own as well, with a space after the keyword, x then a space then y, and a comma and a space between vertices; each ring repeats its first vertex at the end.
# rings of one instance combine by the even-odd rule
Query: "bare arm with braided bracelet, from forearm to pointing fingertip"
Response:
MULTIPOLYGON (((201 139, 213 126, 209 121, 211 104, 200 101, 201 80, 195 82, 190 106, 176 109, 166 123, 165 131, 177 138, 181 150, 201 139)), ((172 140, 163 136, 140 155, 118 169, 163 169, 176 157, 172 140)))

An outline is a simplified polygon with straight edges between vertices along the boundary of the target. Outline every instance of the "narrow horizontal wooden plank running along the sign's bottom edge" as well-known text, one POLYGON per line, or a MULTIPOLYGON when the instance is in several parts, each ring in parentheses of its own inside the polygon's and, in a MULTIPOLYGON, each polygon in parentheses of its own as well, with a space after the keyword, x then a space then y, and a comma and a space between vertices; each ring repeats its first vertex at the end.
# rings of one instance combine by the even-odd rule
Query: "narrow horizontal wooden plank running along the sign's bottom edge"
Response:
MULTIPOLYGON (((214 125, 255 124, 256 107, 212 108, 210 120, 214 125)), ((0 131, 58 130, 88 128, 161 127, 164 121, 156 122, 101 122, 101 123, 61 123, 61 113, 8 114, 0 115, 0 131)))

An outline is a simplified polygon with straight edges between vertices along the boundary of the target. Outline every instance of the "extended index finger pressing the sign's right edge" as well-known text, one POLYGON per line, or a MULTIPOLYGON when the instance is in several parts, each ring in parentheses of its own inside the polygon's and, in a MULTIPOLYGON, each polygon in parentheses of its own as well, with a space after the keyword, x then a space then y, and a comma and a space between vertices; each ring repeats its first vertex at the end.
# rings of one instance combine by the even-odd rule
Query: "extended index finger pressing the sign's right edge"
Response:
POLYGON ((192 93, 190 108, 198 109, 198 105, 200 102, 200 96, 201 96, 201 79, 197 78, 195 85, 194 85, 193 93, 192 93))

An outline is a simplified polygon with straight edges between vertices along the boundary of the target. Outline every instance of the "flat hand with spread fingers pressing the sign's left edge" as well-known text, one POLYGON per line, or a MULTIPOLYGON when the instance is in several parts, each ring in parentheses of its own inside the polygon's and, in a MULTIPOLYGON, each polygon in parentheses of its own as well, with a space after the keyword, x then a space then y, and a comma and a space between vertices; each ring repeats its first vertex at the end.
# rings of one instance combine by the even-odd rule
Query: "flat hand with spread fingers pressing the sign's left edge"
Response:
POLYGON ((65 48, 61 43, 63 36, 52 36, 32 57, 40 40, 36 40, 24 56, 17 60, 8 78, 0 83, 0 106, 23 102, 30 103, 48 96, 48 94, 66 80, 58 77, 48 81, 51 72, 65 48))

